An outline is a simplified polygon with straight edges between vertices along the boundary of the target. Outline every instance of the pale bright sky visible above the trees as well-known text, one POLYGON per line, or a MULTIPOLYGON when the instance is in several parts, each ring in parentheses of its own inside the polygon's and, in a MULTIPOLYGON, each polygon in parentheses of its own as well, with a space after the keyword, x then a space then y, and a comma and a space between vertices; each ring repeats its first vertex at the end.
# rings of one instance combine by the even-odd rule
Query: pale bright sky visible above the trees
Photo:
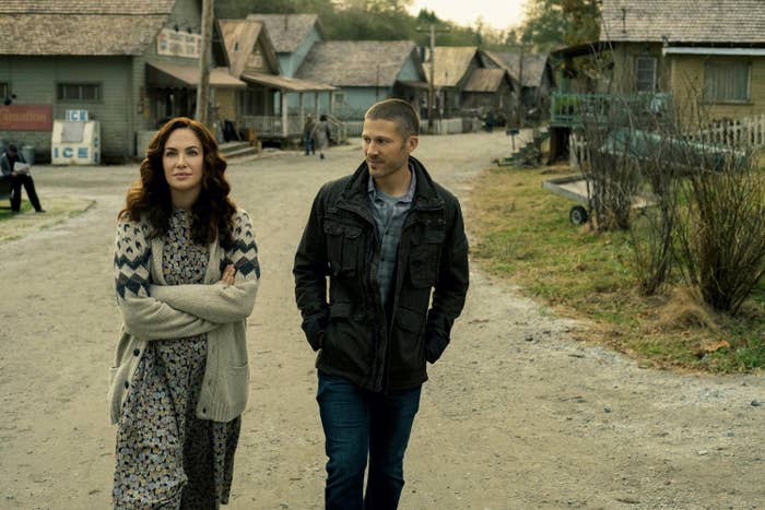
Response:
POLYGON ((526 0, 414 0, 411 12, 420 9, 435 11, 442 20, 460 25, 472 25, 479 17, 485 25, 507 29, 518 25, 523 15, 526 0))

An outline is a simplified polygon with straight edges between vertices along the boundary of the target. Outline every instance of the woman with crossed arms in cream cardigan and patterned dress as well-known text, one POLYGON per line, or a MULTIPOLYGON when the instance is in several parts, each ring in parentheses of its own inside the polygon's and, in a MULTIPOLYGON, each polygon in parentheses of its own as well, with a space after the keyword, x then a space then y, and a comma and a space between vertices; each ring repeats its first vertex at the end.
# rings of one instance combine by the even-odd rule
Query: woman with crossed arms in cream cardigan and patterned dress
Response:
POLYGON ((118 215, 115 508, 228 501, 260 266, 250 216, 228 198, 225 169, 208 128, 170 119, 118 215))

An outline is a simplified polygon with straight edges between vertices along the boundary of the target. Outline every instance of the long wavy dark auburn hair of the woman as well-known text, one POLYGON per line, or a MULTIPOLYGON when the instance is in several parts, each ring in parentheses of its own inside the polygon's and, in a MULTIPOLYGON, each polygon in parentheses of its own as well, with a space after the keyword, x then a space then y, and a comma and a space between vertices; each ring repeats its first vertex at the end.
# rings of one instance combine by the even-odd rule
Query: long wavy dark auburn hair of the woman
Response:
POLYGON ((170 119, 154 135, 146 157, 141 162, 141 177, 128 190, 125 209, 119 217, 139 221, 144 217, 151 226, 151 236, 167 234, 173 214, 170 188, 165 179, 162 156, 167 139, 176 129, 190 129, 202 144, 202 190, 191 207, 191 238, 207 245, 219 239, 224 248, 233 244, 234 213, 236 205, 228 198, 231 186, 225 178, 226 161, 217 142, 202 123, 187 117, 170 119))

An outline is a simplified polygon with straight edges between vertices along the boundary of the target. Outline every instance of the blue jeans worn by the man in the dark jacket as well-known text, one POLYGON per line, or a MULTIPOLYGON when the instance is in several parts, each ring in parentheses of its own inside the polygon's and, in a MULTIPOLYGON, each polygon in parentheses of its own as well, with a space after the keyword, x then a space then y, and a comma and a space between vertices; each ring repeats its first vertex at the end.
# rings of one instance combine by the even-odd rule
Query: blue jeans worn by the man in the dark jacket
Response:
POLYGON ((327 510, 398 507, 403 489, 403 454, 420 408, 421 389, 373 393, 319 371, 316 400, 329 458, 327 510), (364 497, 367 456, 369 474, 364 497))

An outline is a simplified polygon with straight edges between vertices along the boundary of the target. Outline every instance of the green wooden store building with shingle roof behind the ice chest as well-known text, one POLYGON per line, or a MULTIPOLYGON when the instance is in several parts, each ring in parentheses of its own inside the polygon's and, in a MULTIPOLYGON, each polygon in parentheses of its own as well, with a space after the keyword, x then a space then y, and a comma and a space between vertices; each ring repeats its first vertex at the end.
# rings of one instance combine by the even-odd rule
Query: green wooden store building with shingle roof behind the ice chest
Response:
MULTIPOLYGON (((101 123, 103 159, 141 157, 166 119, 195 114, 200 26, 199 0, 4 0, 0 93, 10 104, 0 106, 0 139, 32 144, 46 161, 52 120, 85 110, 101 123), (28 115, 46 121, 12 120, 28 115)), ((245 83, 228 74, 220 44, 212 54, 214 105, 245 83)))

